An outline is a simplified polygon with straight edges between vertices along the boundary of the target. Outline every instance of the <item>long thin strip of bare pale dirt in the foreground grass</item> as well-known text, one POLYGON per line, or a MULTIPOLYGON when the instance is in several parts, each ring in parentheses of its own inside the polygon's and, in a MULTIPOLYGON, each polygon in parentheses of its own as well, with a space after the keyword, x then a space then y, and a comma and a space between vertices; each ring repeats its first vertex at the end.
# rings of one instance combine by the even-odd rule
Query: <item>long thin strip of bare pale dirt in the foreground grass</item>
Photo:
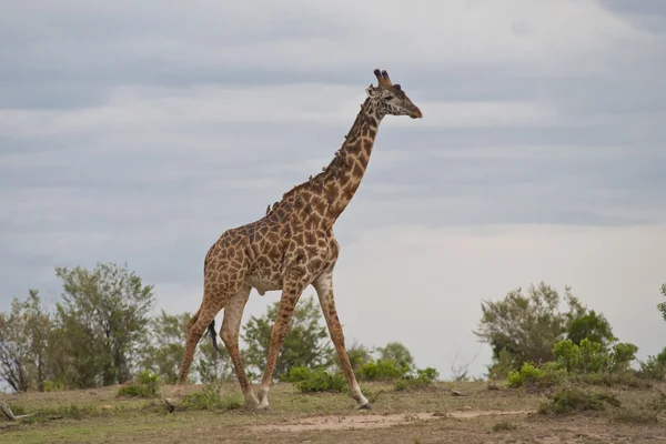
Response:
POLYGON ((324 430, 353 430, 353 428, 382 428, 393 425, 411 424, 417 421, 436 420, 441 417, 471 418, 484 415, 521 415, 532 413, 531 411, 463 411, 452 413, 394 413, 385 415, 355 414, 355 415, 326 415, 313 416, 290 423, 255 425, 253 431, 273 432, 304 432, 324 430))

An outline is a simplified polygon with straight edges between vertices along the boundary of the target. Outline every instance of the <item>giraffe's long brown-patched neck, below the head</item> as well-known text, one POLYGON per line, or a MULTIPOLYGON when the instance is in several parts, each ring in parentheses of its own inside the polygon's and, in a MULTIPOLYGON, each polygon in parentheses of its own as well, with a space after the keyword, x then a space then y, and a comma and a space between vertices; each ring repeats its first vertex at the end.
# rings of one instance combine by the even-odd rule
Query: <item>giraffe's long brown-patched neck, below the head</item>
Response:
POLYGON ((323 214, 327 224, 333 224, 349 205, 365 174, 372 148, 384 112, 367 98, 352 125, 342 148, 325 170, 315 179, 323 186, 327 201, 323 214))

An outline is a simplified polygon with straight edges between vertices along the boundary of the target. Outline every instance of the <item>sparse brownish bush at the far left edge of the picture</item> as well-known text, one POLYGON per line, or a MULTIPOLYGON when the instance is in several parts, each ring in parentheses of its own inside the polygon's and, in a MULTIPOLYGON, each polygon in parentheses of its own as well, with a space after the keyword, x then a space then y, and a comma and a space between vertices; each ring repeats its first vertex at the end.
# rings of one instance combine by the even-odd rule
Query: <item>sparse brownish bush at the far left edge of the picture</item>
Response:
POLYGON ((0 313, 0 379, 16 392, 44 390, 51 317, 37 290, 14 297, 9 315, 0 313))

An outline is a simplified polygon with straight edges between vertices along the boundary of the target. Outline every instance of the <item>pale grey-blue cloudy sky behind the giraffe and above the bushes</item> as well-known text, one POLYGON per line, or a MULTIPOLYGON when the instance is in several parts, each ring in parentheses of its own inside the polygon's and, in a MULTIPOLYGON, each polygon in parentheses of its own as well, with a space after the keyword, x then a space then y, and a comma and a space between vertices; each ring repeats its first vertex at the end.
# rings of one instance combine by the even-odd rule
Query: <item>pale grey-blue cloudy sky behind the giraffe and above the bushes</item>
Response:
POLYGON ((0 310, 127 261, 195 311, 209 246, 332 159, 381 68, 424 118, 384 120, 335 225, 347 343, 481 375, 480 302, 543 280, 666 345, 662 1, 3 0, 0 65, 0 310))

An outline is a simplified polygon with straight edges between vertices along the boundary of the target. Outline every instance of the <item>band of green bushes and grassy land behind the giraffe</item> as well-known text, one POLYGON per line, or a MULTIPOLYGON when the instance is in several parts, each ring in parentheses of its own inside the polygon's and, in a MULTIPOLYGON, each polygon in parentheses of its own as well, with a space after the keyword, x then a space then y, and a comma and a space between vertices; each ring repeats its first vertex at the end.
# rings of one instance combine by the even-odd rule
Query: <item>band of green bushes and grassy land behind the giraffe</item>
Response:
MULTIPOLYGON (((58 268, 56 275, 62 293, 53 306, 44 306, 31 290, 0 314, 0 380, 9 392, 0 400, 13 415, 27 415, 8 422, 11 428, 0 434, 0 441, 4 435, 11 442, 42 442, 47 427, 52 432, 49 442, 109 436, 142 442, 181 436, 181 442, 200 442, 211 427, 231 427, 245 432, 234 432, 229 442, 251 442, 260 432, 248 427, 275 424, 271 415, 245 410, 226 351, 215 351, 205 335, 190 374, 196 385, 168 414, 160 398, 178 377, 191 313, 155 312, 153 286, 127 266, 58 268), (158 428, 165 432, 154 432, 158 428)), ((660 293, 666 299, 666 284, 660 293)), ((251 380, 261 377, 278 309, 274 302, 242 326, 242 354, 251 380)), ((655 315, 666 322, 666 300, 656 309, 655 315)), ((400 342, 379 347, 347 344, 375 413, 383 413, 389 425, 391 415, 407 415, 395 420, 405 424, 400 433, 383 435, 375 430, 373 436, 384 436, 385 442, 436 442, 445 431, 452 442, 458 432, 465 442, 476 442, 470 441, 474 433, 527 438, 534 437, 528 431, 535 424, 548 428, 562 415, 579 414, 593 414, 599 431, 607 432, 608 425, 642 426, 639 434, 645 436, 653 433, 650 427, 666 423, 666 347, 637 360, 638 346, 616 337, 603 313, 585 306, 569 287, 559 294, 539 283, 483 301, 474 334, 493 352, 487 374, 474 381, 465 367, 441 381, 437 370, 417 366, 400 342), (445 421, 456 412, 463 417, 466 411, 513 411, 522 416, 498 421, 480 413, 470 421, 482 428, 445 421), (534 415, 525 416, 525 411, 534 415), (431 416, 425 417, 426 412, 431 416)), ((315 413, 360 414, 352 413, 346 380, 313 296, 299 302, 274 376, 272 410, 283 412, 286 420, 297 422, 315 413)), ((589 426, 589 417, 586 421, 589 426)), ((342 431, 322 427, 312 432, 316 442, 340 442, 342 431)), ((284 442, 291 442, 292 432, 284 432, 284 442)), ((307 436, 307 431, 299 433, 307 436)), ((352 440, 352 432, 344 433, 344 440, 352 440)), ((274 442, 282 442, 280 436, 274 442)))

